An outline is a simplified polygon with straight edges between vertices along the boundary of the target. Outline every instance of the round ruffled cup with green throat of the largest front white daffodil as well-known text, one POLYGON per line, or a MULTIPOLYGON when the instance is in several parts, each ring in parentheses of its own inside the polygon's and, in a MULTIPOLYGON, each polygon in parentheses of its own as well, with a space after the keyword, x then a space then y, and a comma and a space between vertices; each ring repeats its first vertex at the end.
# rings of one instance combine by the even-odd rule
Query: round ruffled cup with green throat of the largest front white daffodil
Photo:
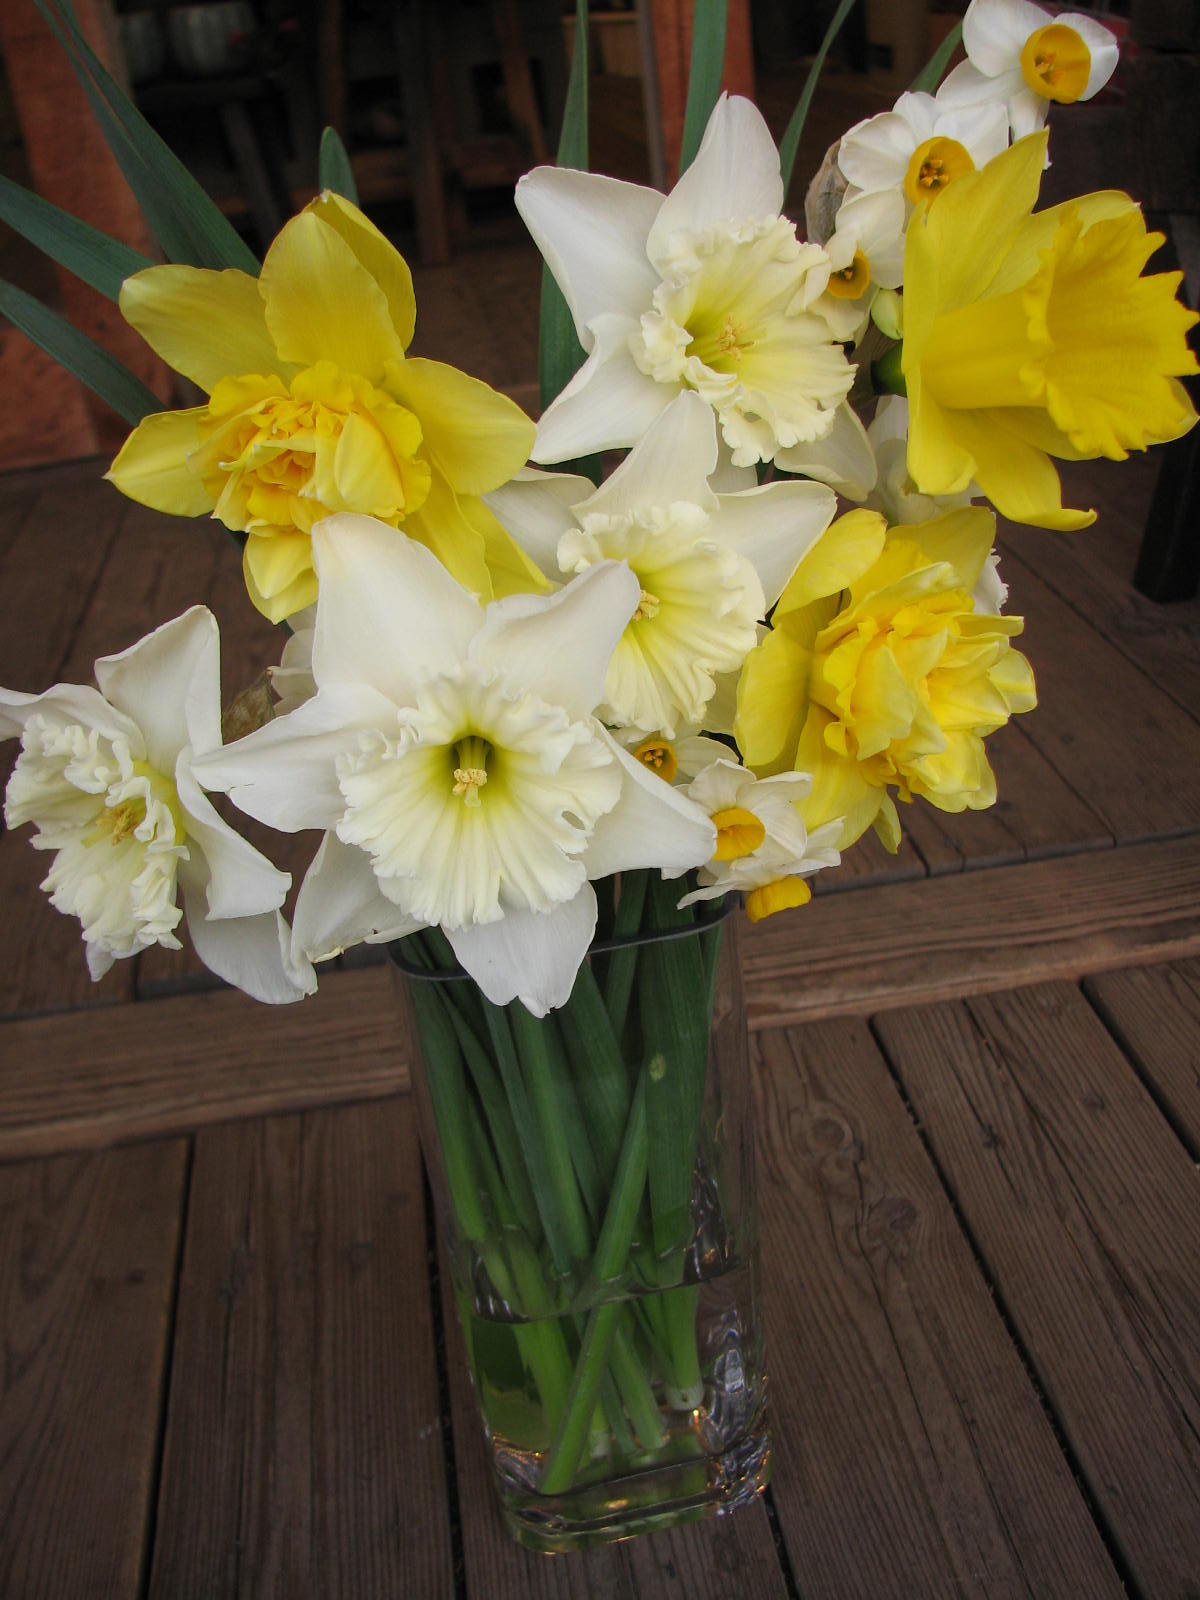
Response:
POLYGON ((598 723, 466 669, 432 678, 390 730, 338 762, 338 837, 381 891, 443 928, 547 912, 571 899, 621 774, 598 723))

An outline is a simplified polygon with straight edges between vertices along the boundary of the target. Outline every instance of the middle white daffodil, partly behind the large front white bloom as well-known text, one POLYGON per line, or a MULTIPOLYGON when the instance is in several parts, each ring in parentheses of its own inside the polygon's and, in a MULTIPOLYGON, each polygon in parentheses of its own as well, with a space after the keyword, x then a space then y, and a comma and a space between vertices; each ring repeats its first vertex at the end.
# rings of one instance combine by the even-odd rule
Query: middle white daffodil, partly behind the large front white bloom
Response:
POLYGON ((637 578, 637 611, 597 707, 611 726, 670 739, 704 723, 717 675, 741 670, 757 624, 834 520, 837 501, 821 483, 714 494, 717 456, 712 411, 682 394, 598 490, 526 470, 488 496, 547 578, 562 582, 606 560, 637 578))

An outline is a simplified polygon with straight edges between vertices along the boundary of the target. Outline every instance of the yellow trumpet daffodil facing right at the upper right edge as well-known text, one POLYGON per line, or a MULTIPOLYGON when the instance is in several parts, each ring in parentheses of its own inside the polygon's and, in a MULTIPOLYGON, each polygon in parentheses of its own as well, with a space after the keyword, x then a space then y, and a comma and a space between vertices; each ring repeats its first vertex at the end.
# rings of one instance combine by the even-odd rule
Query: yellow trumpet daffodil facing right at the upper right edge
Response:
POLYGON ((1162 234, 1128 195, 1034 216, 1046 134, 955 179, 912 219, 904 256, 909 474, 925 494, 974 478, 998 512, 1085 528, 1050 458, 1123 461, 1186 434, 1197 371, 1178 272, 1141 277, 1162 234))

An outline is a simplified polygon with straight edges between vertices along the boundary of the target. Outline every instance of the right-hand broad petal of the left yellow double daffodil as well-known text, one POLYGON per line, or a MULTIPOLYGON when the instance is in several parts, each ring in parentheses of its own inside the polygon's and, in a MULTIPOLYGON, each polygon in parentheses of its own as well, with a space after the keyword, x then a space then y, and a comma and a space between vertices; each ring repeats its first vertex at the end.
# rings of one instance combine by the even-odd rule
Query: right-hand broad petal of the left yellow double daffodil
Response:
POLYGON ((538 429, 507 395, 443 362, 387 370, 389 394, 421 418, 426 450, 459 494, 486 494, 525 466, 538 429))

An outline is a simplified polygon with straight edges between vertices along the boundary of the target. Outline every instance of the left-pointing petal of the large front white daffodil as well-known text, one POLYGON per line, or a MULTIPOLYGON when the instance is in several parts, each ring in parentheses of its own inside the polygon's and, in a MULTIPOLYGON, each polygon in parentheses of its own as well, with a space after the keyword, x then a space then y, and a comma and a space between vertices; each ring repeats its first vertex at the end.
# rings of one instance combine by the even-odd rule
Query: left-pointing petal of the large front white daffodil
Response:
POLYGON ((357 747, 362 728, 394 725, 395 707, 374 690, 336 685, 245 739, 197 757, 192 771, 205 789, 224 790, 269 827, 326 829, 346 810, 336 758, 357 747))

